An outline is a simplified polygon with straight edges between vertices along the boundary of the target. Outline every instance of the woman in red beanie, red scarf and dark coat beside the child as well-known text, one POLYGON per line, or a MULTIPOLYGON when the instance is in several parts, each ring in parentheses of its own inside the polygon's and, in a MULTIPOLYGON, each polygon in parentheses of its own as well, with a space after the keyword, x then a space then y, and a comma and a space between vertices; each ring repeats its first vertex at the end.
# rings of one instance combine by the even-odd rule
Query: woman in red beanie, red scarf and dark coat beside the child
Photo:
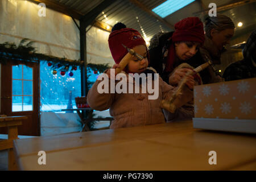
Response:
MULTIPOLYGON (((177 68, 178 65, 188 63, 196 68, 205 63, 199 52, 204 40, 204 26, 199 18, 180 20, 175 24, 174 32, 159 33, 150 40, 149 66, 155 68, 164 81, 176 86, 189 70, 177 68)), ((207 83, 207 71, 201 71, 200 76, 207 83)), ((191 82, 189 86, 193 87, 194 84, 195 82, 191 82)))

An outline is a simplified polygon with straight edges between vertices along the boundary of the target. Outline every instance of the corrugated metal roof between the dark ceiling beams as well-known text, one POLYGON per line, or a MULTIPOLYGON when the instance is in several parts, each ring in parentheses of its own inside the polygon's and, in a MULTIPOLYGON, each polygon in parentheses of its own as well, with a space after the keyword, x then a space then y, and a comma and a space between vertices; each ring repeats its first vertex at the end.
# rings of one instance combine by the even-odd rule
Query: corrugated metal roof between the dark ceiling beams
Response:
MULTIPOLYGON (((65 5, 73 10, 78 11, 80 14, 85 15, 91 11, 94 7, 99 5, 104 0, 52 0, 60 5, 65 5)), ((166 0, 137 0, 137 2, 142 3, 143 7, 148 10, 154 9, 156 6, 160 5, 166 0)), ((228 3, 234 3, 241 0, 201 0, 195 1, 188 6, 176 11, 164 18, 168 23, 175 24, 179 20, 186 18, 188 16, 199 16, 203 20, 203 14, 199 13, 195 15, 195 12, 201 11, 208 8, 209 3, 216 3, 217 7, 226 5, 228 3), (201 4, 203 3, 203 5, 201 4)), ((221 11, 218 13, 226 14, 233 19, 234 23, 237 24, 239 21, 243 22, 243 27, 237 29, 243 30, 243 28, 255 27, 256 22, 256 7, 255 3, 250 3, 247 5, 239 6, 233 9, 221 11)), ((98 20, 108 23, 114 26, 117 22, 125 23, 127 27, 134 28, 138 30, 142 35, 142 28, 147 37, 151 38, 154 34, 159 31, 172 31, 167 24, 160 22, 154 16, 148 14, 146 11, 142 10, 140 7, 134 5, 129 0, 117 0, 108 8, 106 8, 104 14, 101 13, 97 16, 98 20), (106 16, 106 18, 105 18, 106 16), (138 17, 138 18, 137 18, 138 17), (139 20, 139 22, 138 22, 139 20), (162 27, 162 28, 161 28, 162 27)), ((204 14, 205 15, 205 14, 204 14)))

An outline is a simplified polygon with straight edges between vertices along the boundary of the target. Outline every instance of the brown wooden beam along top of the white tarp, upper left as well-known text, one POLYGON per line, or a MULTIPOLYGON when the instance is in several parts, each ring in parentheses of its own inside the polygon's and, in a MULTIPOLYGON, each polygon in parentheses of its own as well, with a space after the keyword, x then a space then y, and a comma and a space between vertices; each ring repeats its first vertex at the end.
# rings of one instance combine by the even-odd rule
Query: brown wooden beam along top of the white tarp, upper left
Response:
POLYGON ((44 3, 47 8, 58 11, 58 12, 63 13, 65 15, 71 16, 75 19, 80 19, 83 16, 78 11, 76 11, 74 9, 71 9, 68 6, 61 5, 59 3, 53 2, 53 1, 49 1, 49 0, 28 0, 28 1, 36 3, 37 5, 39 5, 39 3, 44 3))

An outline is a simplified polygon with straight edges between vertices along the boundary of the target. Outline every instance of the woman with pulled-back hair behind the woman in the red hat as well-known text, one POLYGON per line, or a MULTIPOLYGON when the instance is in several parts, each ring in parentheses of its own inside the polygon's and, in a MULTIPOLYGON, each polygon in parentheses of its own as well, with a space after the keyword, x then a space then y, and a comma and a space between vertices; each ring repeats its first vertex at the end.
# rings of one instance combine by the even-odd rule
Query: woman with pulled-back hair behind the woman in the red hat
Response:
MULTIPOLYGON (((208 16, 205 19, 205 42, 200 47, 201 56, 205 61, 207 61, 208 57, 213 64, 221 64, 221 54, 226 50, 226 44, 233 37, 234 28, 232 19, 222 14, 212 17, 208 16)), ((210 77, 208 77, 206 82, 224 81, 220 76, 216 76, 211 67, 208 67, 207 71, 210 73, 210 77)))

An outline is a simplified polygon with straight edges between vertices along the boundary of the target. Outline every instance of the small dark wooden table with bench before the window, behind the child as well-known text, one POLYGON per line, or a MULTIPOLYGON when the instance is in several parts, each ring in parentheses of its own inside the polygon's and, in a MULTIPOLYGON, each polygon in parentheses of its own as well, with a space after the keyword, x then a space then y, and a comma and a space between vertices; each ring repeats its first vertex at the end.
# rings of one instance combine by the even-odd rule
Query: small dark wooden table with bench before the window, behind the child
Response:
POLYGON ((90 131, 89 129, 89 122, 92 121, 112 121, 113 117, 107 117, 107 118, 84 118, 82 115, 82 111, 91 111, 90 114, 93 113, 93 109, 91 108, 78 108, 78 109, 61 109, 61 111, 76 111, 79 115, 79 118, 81 119, 80 122, 82 124, 82 130, 81 131, 90 131))

